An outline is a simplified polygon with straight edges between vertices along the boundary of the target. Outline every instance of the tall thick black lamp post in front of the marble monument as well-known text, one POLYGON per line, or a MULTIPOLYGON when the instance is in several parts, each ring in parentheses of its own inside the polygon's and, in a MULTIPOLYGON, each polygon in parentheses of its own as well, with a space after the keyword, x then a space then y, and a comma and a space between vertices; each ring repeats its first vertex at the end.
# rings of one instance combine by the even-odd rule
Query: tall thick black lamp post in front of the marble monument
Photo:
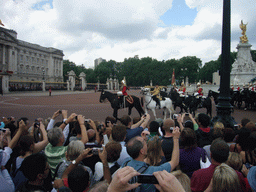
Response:
POLYGON ((230 0, 223 0, 222 53, 220 66, 220 95, 217 116, 212 122, 221 121, 225 127, 234 127, 230 104, 230 0))

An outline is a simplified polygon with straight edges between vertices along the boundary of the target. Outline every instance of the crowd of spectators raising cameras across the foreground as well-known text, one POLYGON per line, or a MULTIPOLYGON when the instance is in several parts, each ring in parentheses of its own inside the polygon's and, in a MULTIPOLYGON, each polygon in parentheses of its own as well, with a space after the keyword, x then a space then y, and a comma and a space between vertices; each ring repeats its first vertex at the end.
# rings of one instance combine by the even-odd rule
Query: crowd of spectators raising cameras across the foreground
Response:
POLYGON ((150 121, 67 110, 0 122, 0 191, 256 191, 256 126, 199 113, 150 121))

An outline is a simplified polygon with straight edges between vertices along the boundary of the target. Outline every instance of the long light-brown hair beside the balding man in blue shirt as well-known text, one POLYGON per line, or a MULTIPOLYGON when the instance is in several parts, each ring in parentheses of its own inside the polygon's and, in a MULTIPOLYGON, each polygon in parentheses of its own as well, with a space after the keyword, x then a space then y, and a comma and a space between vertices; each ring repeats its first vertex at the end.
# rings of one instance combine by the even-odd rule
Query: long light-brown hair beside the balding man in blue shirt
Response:
POLYGON ((147 147, 147 159, 149 160, 149 164, 151 166, 156 166, 162 158, 162 141, 158 136, 154 136, 148 141, 147 147))

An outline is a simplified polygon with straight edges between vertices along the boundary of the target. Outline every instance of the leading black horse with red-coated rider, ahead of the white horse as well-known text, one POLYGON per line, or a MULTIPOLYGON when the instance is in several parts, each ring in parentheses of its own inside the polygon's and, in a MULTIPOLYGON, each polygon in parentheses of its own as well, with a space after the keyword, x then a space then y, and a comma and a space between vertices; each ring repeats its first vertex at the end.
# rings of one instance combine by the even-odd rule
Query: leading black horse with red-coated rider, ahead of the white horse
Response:
MULTIPOLYGON (((129 108, 128 115, 131 115, 132 108, 135 107, 138 113, 140 114, 140 116, 142 116, 145 112, 141 107, 140 99, 134 95, 131 95, 131 97, 133 99, 133 103, 130 103, 127 100, 125 100, 125 107, 129 108)), ((120 100, 118 99, 117 94, 102 90, 100 95, 100 102, 102 103, 105 99, 107 99, 110 102, 111 107, 114 109, 113 117, 118 119, 117 111, 118 109, 121 109, 121 105, 120 105, 120 100)))

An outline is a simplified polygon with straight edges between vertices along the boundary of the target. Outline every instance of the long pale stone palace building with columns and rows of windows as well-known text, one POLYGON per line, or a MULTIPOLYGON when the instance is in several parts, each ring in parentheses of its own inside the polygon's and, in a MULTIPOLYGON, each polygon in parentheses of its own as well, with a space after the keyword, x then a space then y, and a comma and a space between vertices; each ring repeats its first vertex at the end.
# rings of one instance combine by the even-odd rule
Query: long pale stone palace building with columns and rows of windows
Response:
POLYGON ((0 27, 0 88, 63 82, 63 56, 62 50, 19 40, 17 32, 0 27))

